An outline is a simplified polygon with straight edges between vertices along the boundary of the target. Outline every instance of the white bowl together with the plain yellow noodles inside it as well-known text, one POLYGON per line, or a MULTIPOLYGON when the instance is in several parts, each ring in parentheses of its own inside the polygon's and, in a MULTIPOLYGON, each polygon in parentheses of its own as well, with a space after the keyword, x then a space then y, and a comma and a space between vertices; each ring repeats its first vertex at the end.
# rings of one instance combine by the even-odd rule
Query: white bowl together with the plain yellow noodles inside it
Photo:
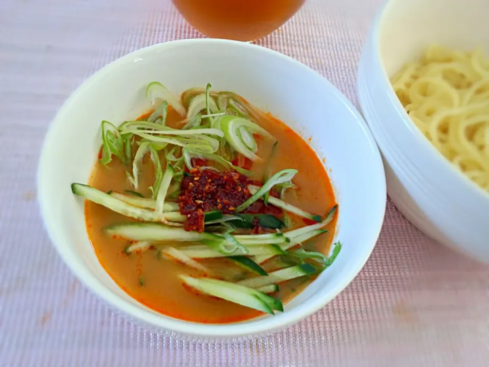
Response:
POLYGON ((489 34, 480 1, 391 0, 358 69, 388 194, 432 239, 489 263, 489 34))

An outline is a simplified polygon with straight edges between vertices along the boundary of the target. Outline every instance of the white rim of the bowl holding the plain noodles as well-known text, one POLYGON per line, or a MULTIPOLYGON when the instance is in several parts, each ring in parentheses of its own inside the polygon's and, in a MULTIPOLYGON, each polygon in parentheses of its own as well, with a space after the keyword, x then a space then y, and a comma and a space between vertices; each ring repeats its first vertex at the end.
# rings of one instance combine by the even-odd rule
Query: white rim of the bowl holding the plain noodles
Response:
POLYGON ((372 24, 372 47, 375 51, 375 56, 377 57, 377 61, 379 65, 381 65, 381 77, 388 85, 387 93, 389 96, 389 100, 396 108, 396 111, 402 116, 402 120, 404 125, 409 129, 411 135, 416 139, 416 141, 421 144, 425 149, 429 149, 431 152, 431 156, 437 161, 438 164, 443 167, 443 169, 452 172, 452 176, 454 179, 457 179, 459 182, 463 183, 467 190, 472 192, 474 195, 480 196, 483 200, 487 201, 489 205, 489 192, 482 189, 477 183, 472 181, 465 173, 461 172, 457 169, 445 156, 434 147, 433 144, 421 133, 421 130, 416 126, 414 121, 409 117, 408 113, 402 106, 401 101, 397 98, 396 92, 394 88, 392 88, 392 84, 389 79, 389 75, 387 75, 387 71, 384 67, 384 61, 382 59, 381 53, 381 41, 380 41, 380 33, 382 31, 382 25, 384 22, 384 18, 386 16, 386 12, 388 11, 389 6, 392 6, 393 1, 386 1, 385 4, 379 9, 377 16, 372 24))

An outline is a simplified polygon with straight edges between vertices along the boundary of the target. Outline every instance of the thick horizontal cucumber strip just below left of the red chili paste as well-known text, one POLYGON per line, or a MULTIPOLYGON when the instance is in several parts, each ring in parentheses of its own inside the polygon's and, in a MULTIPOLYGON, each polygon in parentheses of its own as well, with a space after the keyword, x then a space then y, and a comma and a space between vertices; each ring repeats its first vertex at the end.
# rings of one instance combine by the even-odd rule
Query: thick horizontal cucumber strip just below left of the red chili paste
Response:
MULTIPOLYGON (((223 238, 216 234, 186 231, 160 223, 115 224, 105 227, 103 232, 132 241, 223 241, 223 238)), ((280 248, 279 251, 285 252, 280 248)))

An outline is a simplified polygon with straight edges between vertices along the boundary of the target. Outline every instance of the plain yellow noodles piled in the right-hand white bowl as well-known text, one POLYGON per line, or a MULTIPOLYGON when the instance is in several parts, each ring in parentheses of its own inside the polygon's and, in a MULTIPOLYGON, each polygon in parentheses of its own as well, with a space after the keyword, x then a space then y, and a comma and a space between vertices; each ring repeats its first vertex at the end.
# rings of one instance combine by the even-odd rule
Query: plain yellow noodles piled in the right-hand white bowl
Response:
POLYGON ((423 135, 489 192, 489 60, 482 51, 430 46, 391 83, 423 135))

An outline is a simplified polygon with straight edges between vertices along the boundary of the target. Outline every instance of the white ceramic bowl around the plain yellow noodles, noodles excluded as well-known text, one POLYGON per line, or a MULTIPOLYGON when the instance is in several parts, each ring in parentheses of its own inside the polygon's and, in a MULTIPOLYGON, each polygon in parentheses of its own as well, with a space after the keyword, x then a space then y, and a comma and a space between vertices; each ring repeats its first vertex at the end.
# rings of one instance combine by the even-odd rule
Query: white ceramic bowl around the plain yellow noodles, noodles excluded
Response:
POLYGON ((429 237, 489 263, 489 194, 429 143, 389 82, 431 43, 487 47, 486 15, 480 0, 389 1, 363 48, 357 93, 382 151, 389 196, 402 214, 429 237))

